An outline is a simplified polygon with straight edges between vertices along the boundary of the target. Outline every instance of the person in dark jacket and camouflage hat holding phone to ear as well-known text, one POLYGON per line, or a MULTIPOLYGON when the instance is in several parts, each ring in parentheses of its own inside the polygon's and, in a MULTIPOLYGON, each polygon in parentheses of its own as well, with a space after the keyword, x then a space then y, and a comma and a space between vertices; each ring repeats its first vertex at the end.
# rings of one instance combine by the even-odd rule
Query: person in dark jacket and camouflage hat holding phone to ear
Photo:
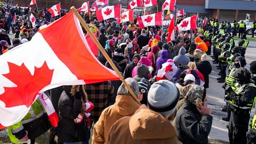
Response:
POLYGON ((175 116, 178 139, 183 144, 207 144, 213 117, 211 109, 205 104, 206 90, 199 85, 187 85, 182 88, 181 93, 185 103, 175 116))

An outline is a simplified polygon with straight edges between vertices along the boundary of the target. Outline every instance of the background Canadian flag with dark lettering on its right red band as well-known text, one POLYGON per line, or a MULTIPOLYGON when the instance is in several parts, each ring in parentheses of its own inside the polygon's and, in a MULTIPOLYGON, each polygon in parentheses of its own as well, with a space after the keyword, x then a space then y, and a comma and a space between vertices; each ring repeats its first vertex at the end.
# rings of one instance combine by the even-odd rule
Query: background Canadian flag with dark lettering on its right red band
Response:
POLYGON ((162 12, 143 15, 137 18, 139 22, 139 28, 145 28, 147 26, 162 26, 162 12))

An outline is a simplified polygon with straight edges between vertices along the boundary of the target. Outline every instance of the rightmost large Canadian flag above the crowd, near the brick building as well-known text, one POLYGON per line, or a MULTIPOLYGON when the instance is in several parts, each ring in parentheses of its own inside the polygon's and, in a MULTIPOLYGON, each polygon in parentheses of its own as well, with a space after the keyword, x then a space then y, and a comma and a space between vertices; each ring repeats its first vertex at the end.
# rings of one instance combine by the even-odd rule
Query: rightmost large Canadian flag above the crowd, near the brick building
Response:
POLYGON ((196 19, 197 15, 194 15, 192 17, 188 17, 186 19, 183 19, 180 24, 177 26, 178 30, 190 30, 190 29, 197 29, 196 27, 196 19))

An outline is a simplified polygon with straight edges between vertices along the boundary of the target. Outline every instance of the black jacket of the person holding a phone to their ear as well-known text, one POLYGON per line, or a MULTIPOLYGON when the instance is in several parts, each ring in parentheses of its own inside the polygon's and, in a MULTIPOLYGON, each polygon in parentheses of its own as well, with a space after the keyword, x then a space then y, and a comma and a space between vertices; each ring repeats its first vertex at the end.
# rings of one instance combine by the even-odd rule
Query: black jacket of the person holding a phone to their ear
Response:
POLYGON ((183 143, 208 143, 212 116, 201 115, 194 105, 185 101, 175 116, 178 139, 183 143))

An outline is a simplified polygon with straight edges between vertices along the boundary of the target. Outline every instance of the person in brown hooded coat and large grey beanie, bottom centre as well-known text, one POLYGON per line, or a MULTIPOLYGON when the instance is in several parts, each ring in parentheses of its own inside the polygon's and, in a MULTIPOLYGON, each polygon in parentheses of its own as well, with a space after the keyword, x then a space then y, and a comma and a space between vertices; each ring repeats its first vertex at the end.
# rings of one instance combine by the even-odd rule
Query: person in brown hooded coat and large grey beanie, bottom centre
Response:
POLYGON ((114 123, 109 130, 106 143, 181 143, 172 126, 179 90, 170 81, 161 80, 151 85, 148 92, 148 108, 145 105, 134 113, 114 123))

